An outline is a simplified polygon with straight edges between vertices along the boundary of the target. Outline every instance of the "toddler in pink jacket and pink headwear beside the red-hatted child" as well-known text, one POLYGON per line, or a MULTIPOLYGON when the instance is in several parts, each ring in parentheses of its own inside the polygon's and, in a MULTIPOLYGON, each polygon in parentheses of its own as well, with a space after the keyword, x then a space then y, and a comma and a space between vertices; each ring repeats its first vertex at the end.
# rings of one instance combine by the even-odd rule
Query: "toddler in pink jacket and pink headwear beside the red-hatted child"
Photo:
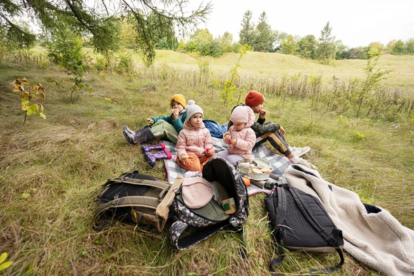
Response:
POLYGON ((237 106, 231 113, 228 132, 224 133, 224 143, 228 149, 218 153, 219 157, 226 159, 234 166, 242 159, 250 159, 253 146, 255 146, 255 131, 250 128, 255 123, 255 113, 248 106, 237 106))

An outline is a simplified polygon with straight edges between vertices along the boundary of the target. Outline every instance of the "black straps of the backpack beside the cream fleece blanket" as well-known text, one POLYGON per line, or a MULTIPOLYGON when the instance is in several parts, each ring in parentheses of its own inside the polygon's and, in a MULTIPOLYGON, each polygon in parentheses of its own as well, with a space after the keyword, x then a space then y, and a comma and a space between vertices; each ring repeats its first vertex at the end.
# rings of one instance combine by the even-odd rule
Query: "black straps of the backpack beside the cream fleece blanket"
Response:
MULTIPOLYGON (((297 206, 299 207, 299 210, 301 210, 302 215, 304 215, 306 220, 308 220, 308 222, 313 226, 313 228, 315 228, 316 230, 319 230, 319 234, 322 235, 322 237, 324 237, 324 239, 326 240, 326 242, 328 242, 328 244, 331 244, 331 246, 335 248, 335 250, 339 254, 339 257, 341 258, 341 262, 339 262, 339 264, 337 264, 336 266, 331 266, 331 267, 321 268, 321 269, 312 269, 310 272, 311 273, 317 273, 317 272, 332 273, 338 268, 341 268, 342 265, 344 264, 344 255, 342 254, 342 250, 341 248, 339 248, 339 244, 336 239, 340 235, 341 230, 336 228, 334 230, 334 236, 331 236, 328 233, 326 233, 325 229, 313 217, 304 199, 302 198, 301 195, 299 195, 299 193, 297 193, 297 190, 288 185, 284 185, 284 186, 290 191, 290 194, 293 196, 293 199, 295 199, 295 202, 297 206)), ((286 233, 284 232, 284 228, 279 228, 279 230, 277 231, 275 235, 275 237, 277 237, 277 249, 279 251, 279 254, 282 252, 282 257, 278 259, 273 259, 272 262, 270 262, 271 270, 273 269, 273 266, 282 263, 284 259, 284 251, 283 251, 282 246, 280 246, 280 244, 282 244, 282 239, 284 238, 285 235, 286 233)))

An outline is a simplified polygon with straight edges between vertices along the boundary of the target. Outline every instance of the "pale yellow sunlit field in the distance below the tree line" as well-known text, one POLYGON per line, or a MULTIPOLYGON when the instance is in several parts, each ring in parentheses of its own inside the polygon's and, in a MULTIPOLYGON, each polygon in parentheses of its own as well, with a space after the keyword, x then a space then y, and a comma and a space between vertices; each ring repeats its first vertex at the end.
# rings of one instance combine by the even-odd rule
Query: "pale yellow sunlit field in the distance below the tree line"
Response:
MULTIPOLYGON (((44 52, 40 47, 34 48, 35 53, 44 52)), ((85 49, 90 55, 93 50, 85 49)), ((141 55, 127 49, 132 59, 137 63, 142 63, 141 55)), ((155 64, 177 66, 186 70, 199 70, 197 58, 182 52, 172 50, 156 50, 155 64)), ((213 72, 228 73, 233 68, 239 58, 238 53, 227 53, 221 57, 200 57, 199 59, 208 61, 213 72)), ((330 65, 324 66, 319 61, 300 59, 292 55, 283 55, 279 53, 248 52, 241 61, 242 68, 239 74, 242 77, 257 78, 277 78, 293 75, 322 75, 324 83, 332 83, 333 77, 339 81, 348 82, 351 79, 364 79, 366 74, 363 68, 366 66, 366 60, 347 59, 332 61, 330 65)), ((392 70, 388 79, 383 81, 384 84, 393 88, 414 91, 414 55, 382 55, 377 64, 377 68, 382 70, 392 70)))

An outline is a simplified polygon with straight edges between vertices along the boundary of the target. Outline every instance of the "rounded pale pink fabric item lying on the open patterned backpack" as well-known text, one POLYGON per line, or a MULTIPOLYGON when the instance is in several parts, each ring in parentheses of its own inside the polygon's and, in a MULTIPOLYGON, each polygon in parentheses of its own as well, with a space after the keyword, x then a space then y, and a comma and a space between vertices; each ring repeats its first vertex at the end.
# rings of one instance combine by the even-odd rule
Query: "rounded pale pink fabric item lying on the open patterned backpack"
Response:
POLYGON ((186 206, 197 209, 206 206, 213 198, 213 187, 203 177, 184 178, 181 194, 186 206))

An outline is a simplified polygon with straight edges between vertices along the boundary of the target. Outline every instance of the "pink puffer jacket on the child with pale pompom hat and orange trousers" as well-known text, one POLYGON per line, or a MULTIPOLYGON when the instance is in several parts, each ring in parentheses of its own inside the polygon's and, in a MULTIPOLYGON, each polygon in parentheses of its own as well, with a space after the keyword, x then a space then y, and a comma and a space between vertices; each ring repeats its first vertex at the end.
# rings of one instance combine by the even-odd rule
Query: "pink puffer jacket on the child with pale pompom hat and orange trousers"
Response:
POLYGON ((199 128, 194 128, 188 121, 184 122, 183 129, 179 132, 177 141, 177 157, 181 155, 213 155, 214 146, 211 139, 210 130, 201 122, 199 128), (213 148, 208 153, 206 149, 213 148))

